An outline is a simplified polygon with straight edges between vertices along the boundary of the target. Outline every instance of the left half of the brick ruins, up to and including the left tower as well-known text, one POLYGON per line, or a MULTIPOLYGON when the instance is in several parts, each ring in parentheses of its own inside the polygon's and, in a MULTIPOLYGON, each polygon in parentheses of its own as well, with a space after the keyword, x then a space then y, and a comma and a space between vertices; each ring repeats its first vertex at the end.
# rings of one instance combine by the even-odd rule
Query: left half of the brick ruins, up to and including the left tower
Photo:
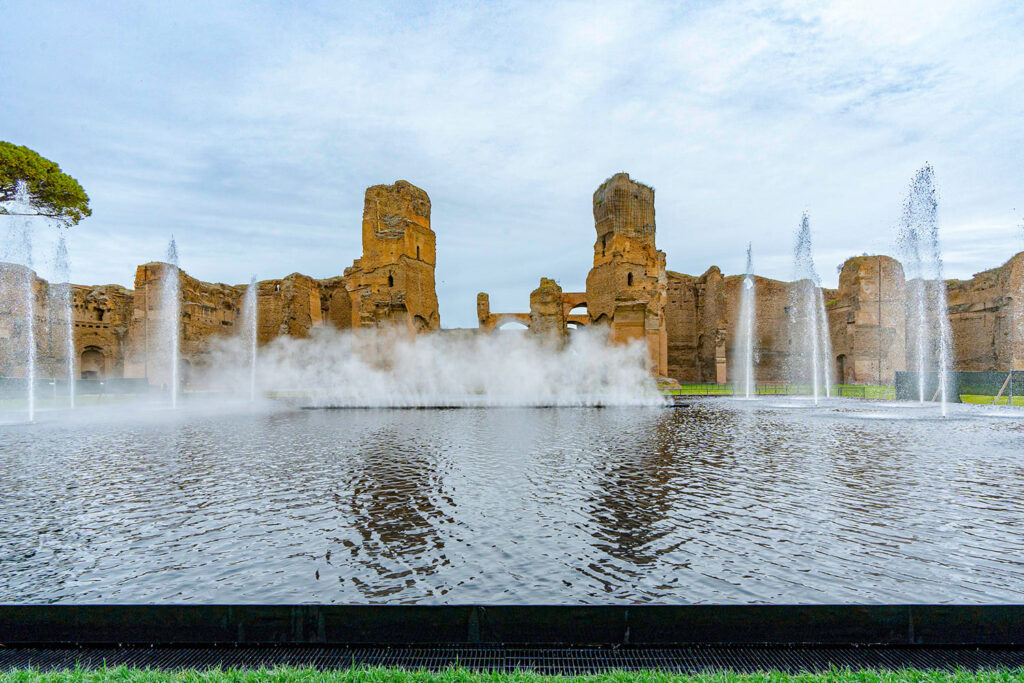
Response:
MULTIPOLYGON (((340 276, 314 280, 292 273, 258 288, 257 338, 307 337, 316 328, 400 326, 410 332, 440 327, 434 291, 434 233, 430 199, 404 180, 367 189, 362 257, 340 276)), ((22 266, 3 287, 24 281, 22 266)), ((135 288, 73 286, 76 365, 82 379, 140 378, 166 386, 169 368, 159 352, 164 283, 174 266, 146 263, 135 270, 135 288)), ((178 271, 182 381, 208 365, 218 341, 238 334, 247 285, 205 283, 178 271)), ((36 340, 41 375, 62 377, 66 352, 51 324, 59 305, 48 283, 36 278, 36 340)), ((24 316, 18 296, 0 296, 0 377, 24 377, 24 316)))

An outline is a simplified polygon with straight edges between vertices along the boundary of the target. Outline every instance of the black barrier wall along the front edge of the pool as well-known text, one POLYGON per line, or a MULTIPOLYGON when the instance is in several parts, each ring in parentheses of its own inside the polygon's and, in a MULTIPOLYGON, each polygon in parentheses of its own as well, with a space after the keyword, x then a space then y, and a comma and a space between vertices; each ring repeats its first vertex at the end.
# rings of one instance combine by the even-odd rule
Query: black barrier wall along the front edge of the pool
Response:
POLYGON ((0 643, 1024 644, 1024 605, 0 605, 0 643))

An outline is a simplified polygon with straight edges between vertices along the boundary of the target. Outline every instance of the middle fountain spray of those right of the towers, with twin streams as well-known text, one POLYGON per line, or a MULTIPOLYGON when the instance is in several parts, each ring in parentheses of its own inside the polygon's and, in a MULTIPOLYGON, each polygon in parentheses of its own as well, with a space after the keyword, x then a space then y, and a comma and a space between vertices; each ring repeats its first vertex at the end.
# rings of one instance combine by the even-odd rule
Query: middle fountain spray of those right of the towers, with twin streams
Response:
POLYGON ((817 404, 822 396, 831 396, 831 337, 825 315, 821 279, 814 267, 811 220, 805 212, 797 230, 794 250, 794 275, 791 290, 791 323, 797 338, 796 367, 791 376, 797 384, 808 382, 817 404))

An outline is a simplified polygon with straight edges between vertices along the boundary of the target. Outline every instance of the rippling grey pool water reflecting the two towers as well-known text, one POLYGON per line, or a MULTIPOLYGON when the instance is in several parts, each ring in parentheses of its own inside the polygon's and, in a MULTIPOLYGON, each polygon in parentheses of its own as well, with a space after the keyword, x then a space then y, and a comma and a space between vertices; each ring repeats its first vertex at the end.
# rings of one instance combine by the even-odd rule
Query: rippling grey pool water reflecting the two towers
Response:
POLYGON ((957 408, 3 426, 0 602, 1022 602, 1024 412, 957 408))

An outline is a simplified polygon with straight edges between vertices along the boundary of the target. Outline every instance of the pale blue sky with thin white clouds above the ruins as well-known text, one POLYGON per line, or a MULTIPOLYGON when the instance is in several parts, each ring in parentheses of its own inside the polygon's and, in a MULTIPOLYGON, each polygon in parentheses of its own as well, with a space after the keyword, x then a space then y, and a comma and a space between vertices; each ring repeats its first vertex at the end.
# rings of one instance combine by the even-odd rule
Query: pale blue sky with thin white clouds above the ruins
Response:
MULTIPOLYGON (((671 270, 835 286, 895 251, 935 168, 947 276, 1024 250, 1024 3, 0 0, 0 139, 77 178, 72 280, 165 257, 241 284, 340 274, 366 187, 432 202, 445 328, 476 293, 583 291, 594 189, 655 189, 671 270)), ((3 234, 3 231, 0 231, 3 234)), ((54 230, 38 230, 43 276, 54 230)))

